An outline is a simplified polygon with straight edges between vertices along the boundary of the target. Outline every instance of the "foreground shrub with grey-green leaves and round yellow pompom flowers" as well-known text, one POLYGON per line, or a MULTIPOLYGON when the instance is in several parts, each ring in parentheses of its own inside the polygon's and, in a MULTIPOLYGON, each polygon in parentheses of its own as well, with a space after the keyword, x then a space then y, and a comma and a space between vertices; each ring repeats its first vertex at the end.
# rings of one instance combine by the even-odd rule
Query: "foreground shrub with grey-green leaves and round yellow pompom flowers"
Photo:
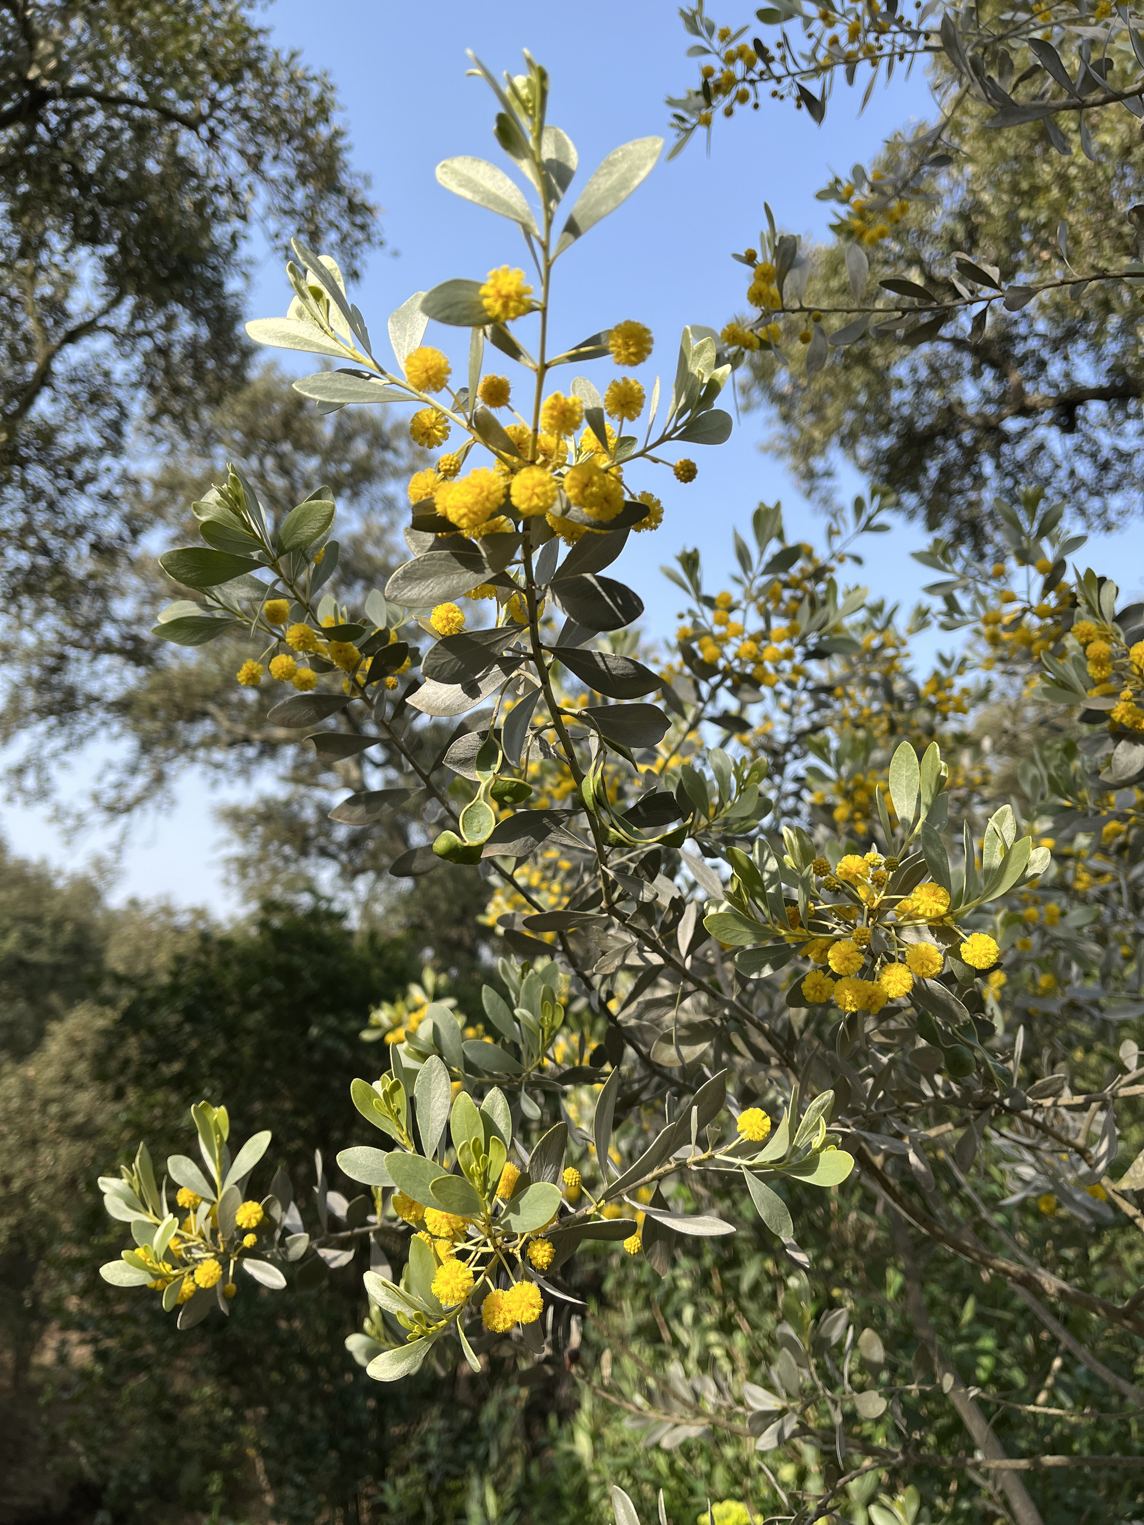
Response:
MULTIPOLYGON (((162 557, 194 596, 156 627, 186 645, 246 627, 256 654, 238 683, 293 689, 272 723, 371 770, 375 787, 331 819, 406 811, 419 840, 392 872, 479 872, 505 956, 480 1011, 429 970, 371 1014, 363 1039, 381 1040, 384 1066, 351 1100, 384 1147, 337 1156, 365 1191, 331 1190, 319 1159, 307 1228, 285 1171, 252 1188, 268 1136, 232 1161, 226 1110, 201 1103, 206 1173, 171 1156, 160 1182, 140 1148, 102 1179, 134 1240, 104 1276, 157 1292, 186 1328, 230 1312, 238 1270, 310 1287, 368 1243, 368 1315, 346 1344, 392 1382, 430 1353, 474 1371, 541 1362, 583 1318, 587 1257, 619 1249, 664 1276, 680 1243, 749 1228, 787 1292, 778 1386, 741 1385, 740 1427, 761 1453, 818 1443, 811 1406, 831 1415, 837 1476, 848 1449, 892 1472, 914 1455, 885 1444, 901 1383, 880 1395, 885 1351, 866 1330, 854 1389, 853 1321, 813 1307, 810 1240, 842 1188, 888 1203, 935 1254, 1083 1310, 1103 1340, 1144 1333, 1081 1266, 1014 1257, 1001 1220, 1031 1205, 1092 1232, 1141 1223, 1144 1153, 1117 1165, 1139 1128, 1126 1116, 1138 1049, 1124 1040, 1112 1060, 1103 1034, 1144 1014, 1130 941, 1144 813, 1124 798, 1144 779, 1144 615, 1069 570, 1081 541, 1030 490, 993 573, 944 541, 921 555, 943 580, 901 630, 845 581, 886 528, 892 496, 876 486, 833 517, 822 552, 760 505, 729 587, 709 590, 700 551, 683 551, 665 569, 685 604, 674 640, 641 640, 639 593, 604 573, 628 534, 664 523, 641 473, 693 483, 679 451, 726 439, 735 345, 685 329, 670 392, 628 374, 554 386, 560 366, 631 372, 653 352, 635 319, 558 349, 555 274, 662 145, 616 149, 564 212, 577 152, 526 64, 503 82, 476 64, 517 178, 468 157, 438 178, 516 224, 528 276, 505 262, 415 293, 378 358, 334 262, 296 242, 287 316, 250 325, 337 363, 296 383, 320 407, 404 406, 412 438, 444 451, 409 483, 410 558, 349 607, 326 490, 282 512, 235 465, 194 505, 204 546, 162 557), (426 342, 439 334, 445 348, 426 342), (456 386, 450 336, 467 346, 456 386), (935 618, 975 644, 921 682, 908 640, 935 618), (973 730, 1002 702, 1046 727, 1016 784, 973 730), (1077 1074, 1074 1087, 1078 1035, 1124 1084, 1077 1074)), ((796 250, 779 244, 789 279, 796 250)), ((671 1429, 660 1443, 679 1441, 671 1429)))

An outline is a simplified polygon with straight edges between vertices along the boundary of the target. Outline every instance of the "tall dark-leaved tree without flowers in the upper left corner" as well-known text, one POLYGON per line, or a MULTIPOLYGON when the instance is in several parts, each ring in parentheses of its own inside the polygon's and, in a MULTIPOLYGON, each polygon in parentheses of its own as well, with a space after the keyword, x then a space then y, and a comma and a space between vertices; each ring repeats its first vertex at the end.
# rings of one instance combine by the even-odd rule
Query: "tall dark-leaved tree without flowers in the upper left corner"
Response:
POLYGON ((308 227, 348 268, 377 242, 331 82, 253 9, 0 5, 0 587, 9 631, 72 645, 72 692, 149 665, 119 618, 151 528, 124 458, 241 383, 247 235, 308 227))

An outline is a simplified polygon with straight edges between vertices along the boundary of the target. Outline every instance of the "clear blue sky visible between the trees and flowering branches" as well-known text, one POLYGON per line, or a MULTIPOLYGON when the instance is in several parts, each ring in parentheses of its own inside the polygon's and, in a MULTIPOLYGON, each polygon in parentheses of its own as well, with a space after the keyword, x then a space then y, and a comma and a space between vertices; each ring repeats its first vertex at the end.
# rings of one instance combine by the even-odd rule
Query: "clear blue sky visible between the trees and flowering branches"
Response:
MULTIPOLYGON (((721 18, 718 9, 714 14, 721 18)), ((728 12, 728 20, 749 14, 743 6, 728 12)), ((386 247, 371 258, 355 294, 374 336, 384 332, 387 314, 415 290, 450 276, 482 278, 493 265, 525 264, 513 224, 459 200, 433 177, 438 162, 453 154, 505 165, 491 136, 493 98, 482 81, 465 78, 467 47, 494 73, 519 69, 522 47, 549 69, 549 120, 575 142, 581 183, 618 143, 650 134, 670 140, 664 96, 682 93, 696 70, 685 58, 691 40, 676 6, 665 0, 581 0, 575 8, 535 0, 436 0, 432 6, 334 0, 320 8, 311 0, 276 0, 267 21, 278 46, 297 49, 310 66, 329 73, 354 162, 371 174, 383 207, 386 247)), ((720 120, 709 157, 696 139, 679 159, 660 163, 630 201, 563 256, 555 342, 570 343, 636 317, 656 336, 656 351, 641 374, 650 381, 662 371, 670 386, 680 328, 721 326, 743 308, 746 271, 729 256, 757 244, 764 200, 786 230, 825 235, 830 207, 815 200, 815 191, 830 171, 868 160, 886 133, 926 116, 929 107, 920 75, 895 79, 889 90, 879 87, 860 117, 859 99, 857 90, 837 92, 821 128, 789 104, 766 101, 757 113, 720 120)), ((264 253, 250 316, 284 313, 287 293, 279 256, 264 253)), ((436 342, 445 337, 435 332, 436 342)), ((304 357, 275 354, 299 374, 313 369, 304 357)), ((459 349, 455 360, 462 363, 459 349)), ((603 363, 586 369, 601 383, 615 374, 603 363)), ((688 544, 700 547, 712 580, 728 573, 732 526, 746 528, 758 502, 781 499, 789 535, 819 538, 819 515, 779 462, 760 448, 767 432, 766 418, 744 413, 726 445, 694 450, 700 477, 693 486, 679 486, 662 471, 639 483, 664 499, 665 525, 654 535, 633 535, 618 570, 641 590, 650 633, 674 624, 680 596, 660 578, 659 564, 688 544)), ((847 485, 853 494, 859 483, 847 485)), ((854 581, 912 602, 927 575, 909 552, 924 538, 908 525, 877 537, 854 581)), ((1139 566, 1144 532, 1130 531, 1104 546, 1130 551, 1132 564, 1139 566)), ((61 776, 61 793, 75 798, 90 790, 98 761, 95 752, 76 759, 61 776)), ((221 869, 226 837, 212 808, 241 798, 241 790, 220 788, 217 778, 206 785, 188 778, 169 810, 137 824, 114 898, 168 897, 220 912, 232 909, 221 869)), ((61 865, 81 865, 108 846, 99 830, 67 845, 46 810, 6 808, 0 820, 15 851, 61 865)))

